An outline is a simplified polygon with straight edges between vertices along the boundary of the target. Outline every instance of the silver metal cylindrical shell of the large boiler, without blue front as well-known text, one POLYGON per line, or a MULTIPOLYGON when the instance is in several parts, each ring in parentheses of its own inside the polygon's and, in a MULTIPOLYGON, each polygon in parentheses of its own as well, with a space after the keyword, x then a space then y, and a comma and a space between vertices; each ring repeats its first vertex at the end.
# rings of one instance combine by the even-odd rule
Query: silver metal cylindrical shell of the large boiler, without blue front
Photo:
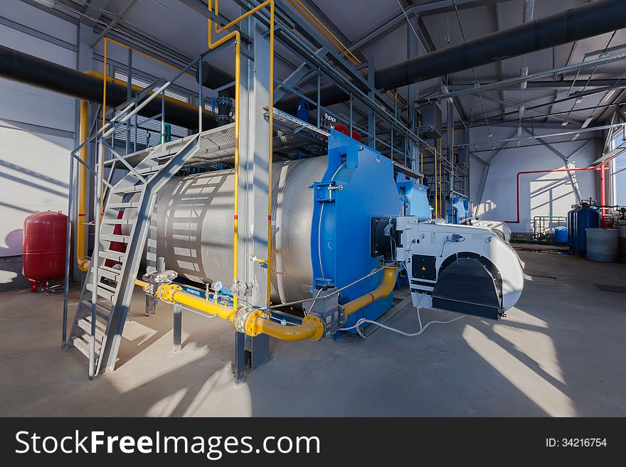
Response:
MULTIPOLYGON (((326 158, 273 165, 272 297, 293 301, 312 285, 312 184, 326 158)), ((233 281, 234 171, 173 178, 157 201, 157 252, 166 267, 198 283, 233 281)), ((259 228, 259 227, 256 227, 259 228)), ((264 228, 264 226, 260 226, 264 228)))

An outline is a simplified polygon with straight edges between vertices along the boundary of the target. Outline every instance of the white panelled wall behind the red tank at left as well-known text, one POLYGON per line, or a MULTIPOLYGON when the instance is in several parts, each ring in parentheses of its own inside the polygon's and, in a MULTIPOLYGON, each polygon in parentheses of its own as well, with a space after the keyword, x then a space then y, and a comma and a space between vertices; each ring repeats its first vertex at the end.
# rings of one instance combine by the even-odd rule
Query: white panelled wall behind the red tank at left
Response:
MULTIPOLYGON (((74 25, 19 1, 1 3, 0 16, 75 42, 74 25)), ((73 50, 15 28, 0 26, 0 43, 60 65, 76 65, 73 50)), ((36 210, 67 213, 74 131, 75 100, 0 79, 0 257, 21 254, 26 216, 36 210)))

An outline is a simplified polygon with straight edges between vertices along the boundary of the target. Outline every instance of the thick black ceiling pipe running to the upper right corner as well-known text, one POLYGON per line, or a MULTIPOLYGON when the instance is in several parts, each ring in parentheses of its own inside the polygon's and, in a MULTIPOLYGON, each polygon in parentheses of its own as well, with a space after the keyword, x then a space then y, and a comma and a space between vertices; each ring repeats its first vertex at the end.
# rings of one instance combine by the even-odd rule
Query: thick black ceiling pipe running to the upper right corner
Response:
MULTIPOLYGON (((626 28, 626 1, 594 1, 473 41, 452 45, 396 65, 380 68, 374 73, 376 88, 392 90, 621 28, 626 28)), ((362 85, 359 87, 363 89, 362 85)), ((366 89, 363 90, 367 92, 366 89)), ((317 102, 317 89, 304 95, 317 102)), ((291 95, 281 100, 277 107, 287 112, 295 112, 299 99, 298 96, 291 95)), ((348 99, 348 95, 335 85, 326 85, 320 92, 320 102, 324 106, 345 102, 348 99)))

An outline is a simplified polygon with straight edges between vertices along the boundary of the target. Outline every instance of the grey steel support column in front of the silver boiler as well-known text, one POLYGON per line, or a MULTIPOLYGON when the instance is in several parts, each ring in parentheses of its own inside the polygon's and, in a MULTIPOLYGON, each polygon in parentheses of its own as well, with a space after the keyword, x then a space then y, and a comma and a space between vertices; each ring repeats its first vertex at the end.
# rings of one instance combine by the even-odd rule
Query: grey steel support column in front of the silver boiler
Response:
MULTIPOLYGON (((243 12, 243 11, 242 11, 243 12)), ((270 99, 270 40, 267 28, 255 18, 242 22, 242 29, 253 38, 249 45, 255 62, 242 58, 239 102, 239 281, 248 284, 240 306, 265 308, 267 264, 267 202, 269 199, 270 135, 263 107, 270 99), (252 258, 261 261, 253 261, 252 258)), ((242 44, 242 48, 245 45, 242 44)), ((239 334, 239 333, 236 333, 239 334)), ((255 368, 270 358, 270 338, 265 334, 250 338, 235 336, 235 380, 245 367, 255 368)))

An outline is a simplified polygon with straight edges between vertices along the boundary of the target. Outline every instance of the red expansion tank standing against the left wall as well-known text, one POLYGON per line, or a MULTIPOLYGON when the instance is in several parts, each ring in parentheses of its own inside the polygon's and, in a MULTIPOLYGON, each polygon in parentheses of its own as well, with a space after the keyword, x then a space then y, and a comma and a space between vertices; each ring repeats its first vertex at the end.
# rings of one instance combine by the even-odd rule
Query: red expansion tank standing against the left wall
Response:
POLYGON ((24 220, 23 270, 31 281, 31 291, 65 275, 65 239, 68 217, 61 213, 37 211, 24 220))

